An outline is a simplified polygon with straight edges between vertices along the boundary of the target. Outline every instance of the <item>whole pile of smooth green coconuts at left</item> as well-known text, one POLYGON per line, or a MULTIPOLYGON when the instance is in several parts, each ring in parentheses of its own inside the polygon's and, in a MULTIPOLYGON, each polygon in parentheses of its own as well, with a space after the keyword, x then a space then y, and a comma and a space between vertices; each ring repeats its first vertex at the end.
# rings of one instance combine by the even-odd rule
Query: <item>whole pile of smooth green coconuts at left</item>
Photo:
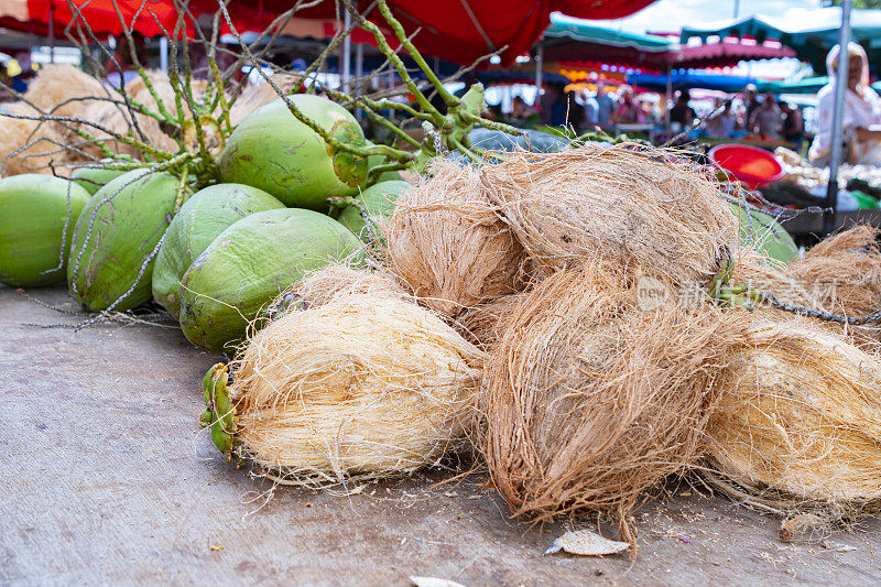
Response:
POLYGON ((291 283, 330 262, 365 262, 377 233, 368 225, 390 214, 410 185, 385 172, 366 187, 383 157, 334 152, 285 100, 337 140, 368 144, 348 110, 302 94, 239 123, 204 187, 185 173, 124 171, 113 160, 79 167, 69 180, 6 177, 0 283, 39 287, 66 279, 89 312, 124 312, 152 298, 191 341, 233 354, 291 283))

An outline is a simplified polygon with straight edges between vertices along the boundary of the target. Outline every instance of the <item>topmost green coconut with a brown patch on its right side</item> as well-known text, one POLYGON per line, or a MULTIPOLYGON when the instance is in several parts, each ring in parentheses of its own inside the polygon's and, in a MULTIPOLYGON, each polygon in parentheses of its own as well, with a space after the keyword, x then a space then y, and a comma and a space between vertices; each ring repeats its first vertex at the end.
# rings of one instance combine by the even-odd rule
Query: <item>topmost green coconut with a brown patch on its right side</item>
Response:
MULTIPOLYGON (((305 94, 287 99, 339 142, 366 144, 358 121, 338 104, 305 94)), ((367 180, 368 163, 365 157, 335 152, 279 98, 236 127, 220 153, 218 172, 222 182, 259 187, 286 206, 325 211, 326 198, 358 193, 367 180)))

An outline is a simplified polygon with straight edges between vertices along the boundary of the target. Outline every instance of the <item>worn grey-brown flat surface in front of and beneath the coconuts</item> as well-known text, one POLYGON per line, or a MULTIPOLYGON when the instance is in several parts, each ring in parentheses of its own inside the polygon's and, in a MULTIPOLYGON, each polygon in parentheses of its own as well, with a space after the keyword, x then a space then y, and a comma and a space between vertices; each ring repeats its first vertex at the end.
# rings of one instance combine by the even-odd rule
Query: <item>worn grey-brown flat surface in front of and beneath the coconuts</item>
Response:
POLYGON ((637 512, 635 562, 543 556, 565 528, 510 520, 479 477, 273 491, 198 432, 215 357, 172 327, 33 326, 81 319, 0 286, 3 585, 881 584, 878 521, 784 544, 775 517, 686 485, 637 512))

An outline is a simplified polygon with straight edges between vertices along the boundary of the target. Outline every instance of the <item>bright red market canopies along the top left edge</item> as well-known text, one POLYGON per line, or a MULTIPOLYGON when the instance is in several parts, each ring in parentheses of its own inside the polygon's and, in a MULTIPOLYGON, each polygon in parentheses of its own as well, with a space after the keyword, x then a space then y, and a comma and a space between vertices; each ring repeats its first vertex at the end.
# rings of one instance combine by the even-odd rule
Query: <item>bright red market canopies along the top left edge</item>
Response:
MULTIPOLYGON (((565 12, 579 18, 619 19, 648 7, 655 0, 389 0, 389 7, 405 32, 418 33, 416 47, 434 56, 458 64, 508 47, 501 53, 503 64, 526 53, 551 22, 551 13, 565 12)), ((358 2, 362 10, 372 2, 358 2)), ((293 0, 231 0, 228 4, 241 30, 262 30, 272 20, 293 7, 293 0)), ((0 0, 0 26, 14 30, 36 29, 46 34, 53 21, 56 35, 75 21, 78 12, 96 33, 122 32, 116 8, 132 28, 144 36, 157 36, 163 29, 172 31, 177 21, 170 0, 0 0)), ((216 0, 193 0, 189 9, 197 17, 217 10, 216 0)), ((325 0, 296 13, 297 18, 335 21, 337 4, 325 0)), ((378 9, 368 18, 383 24, 378 9)))

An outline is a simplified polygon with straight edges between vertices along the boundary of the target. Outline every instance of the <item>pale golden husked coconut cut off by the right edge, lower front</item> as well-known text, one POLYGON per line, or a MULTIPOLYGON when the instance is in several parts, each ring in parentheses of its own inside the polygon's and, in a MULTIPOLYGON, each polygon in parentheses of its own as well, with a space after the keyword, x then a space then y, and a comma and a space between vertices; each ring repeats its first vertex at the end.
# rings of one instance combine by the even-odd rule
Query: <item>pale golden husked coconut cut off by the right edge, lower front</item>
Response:
POLYGON ((802 319, 757 319, 709 422, 724 490, 833 519, 881 499, 881 361, 802 319))

